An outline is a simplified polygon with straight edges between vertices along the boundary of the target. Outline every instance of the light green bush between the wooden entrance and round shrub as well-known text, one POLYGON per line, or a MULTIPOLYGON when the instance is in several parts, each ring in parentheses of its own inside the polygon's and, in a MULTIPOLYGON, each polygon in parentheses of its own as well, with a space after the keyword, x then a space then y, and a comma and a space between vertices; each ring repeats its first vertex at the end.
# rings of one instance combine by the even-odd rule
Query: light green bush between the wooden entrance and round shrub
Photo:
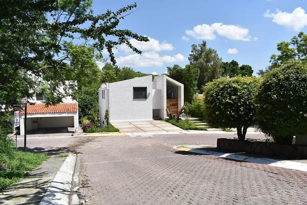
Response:
POLYGON ((184 109, 186 115, 193 117, 204 117, 204 97, 203 95, 197 95, 193 98, 192 103, 188 103, 184 109))

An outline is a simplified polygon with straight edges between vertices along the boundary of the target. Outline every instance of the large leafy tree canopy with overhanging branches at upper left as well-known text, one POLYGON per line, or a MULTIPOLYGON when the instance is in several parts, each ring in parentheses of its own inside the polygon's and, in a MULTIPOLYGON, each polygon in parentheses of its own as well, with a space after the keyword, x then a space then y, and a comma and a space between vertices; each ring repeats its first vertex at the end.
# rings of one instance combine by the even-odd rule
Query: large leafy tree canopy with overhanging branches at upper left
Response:
MULTIPOLYGON (((31 98, 44 87, 47 104, 62 102, 64 95, 77 98, 72 78, 82 84, 99 73, 95 60, 130 38, 148 41, 130 30, 118 29, 119 22, 136 8, 136 3, 118 11, 93 15, 92 0, 24 0, 0 2, 0 106, 31 98), (51 17, 51 19, 48 19, 51 17), (90 73, 90 74, 89 74, 90 73), (44 84, 44 82, 48 82, 44 84), (58 94, 65 86, 65 94, 58 94)), ((2 109, 3 107, 0 107, 2 109)))

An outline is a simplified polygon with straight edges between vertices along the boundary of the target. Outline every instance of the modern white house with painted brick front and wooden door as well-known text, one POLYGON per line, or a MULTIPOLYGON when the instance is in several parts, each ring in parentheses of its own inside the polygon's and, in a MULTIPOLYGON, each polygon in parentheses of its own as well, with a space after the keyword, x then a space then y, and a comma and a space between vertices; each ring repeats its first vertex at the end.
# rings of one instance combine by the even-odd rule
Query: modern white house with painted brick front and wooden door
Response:
POLYGON ((183 84, 160 75, 145 76, 102 84, 99 89, 100 126, 106 126, 105 111, 109 122, 150 121, 165 119, 166 109, 177 114, 183 106, 183 84))

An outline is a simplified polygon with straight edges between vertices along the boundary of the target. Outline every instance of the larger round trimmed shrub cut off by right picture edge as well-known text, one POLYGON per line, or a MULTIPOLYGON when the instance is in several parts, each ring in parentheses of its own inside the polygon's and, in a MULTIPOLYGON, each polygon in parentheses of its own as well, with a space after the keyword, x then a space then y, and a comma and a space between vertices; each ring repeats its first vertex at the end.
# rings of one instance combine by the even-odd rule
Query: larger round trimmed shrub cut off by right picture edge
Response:
POLYGON ((263 77, 255 102, 257 123, 276 143, 307 134, 307 64, 289 61, 263 77))

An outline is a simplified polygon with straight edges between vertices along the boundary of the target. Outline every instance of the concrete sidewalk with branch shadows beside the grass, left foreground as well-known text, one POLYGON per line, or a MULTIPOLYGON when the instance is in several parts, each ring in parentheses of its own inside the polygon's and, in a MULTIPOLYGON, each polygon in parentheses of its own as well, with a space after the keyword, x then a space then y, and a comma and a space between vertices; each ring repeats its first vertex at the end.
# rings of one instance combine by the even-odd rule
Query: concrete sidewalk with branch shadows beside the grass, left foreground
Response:
POLYGON ((51 156, 50 159, 31 171, 28 178, 3 190, 0 193, 0 204, 39 204, 64 160, 65 158, 58 158, 56 155, 51 156))

